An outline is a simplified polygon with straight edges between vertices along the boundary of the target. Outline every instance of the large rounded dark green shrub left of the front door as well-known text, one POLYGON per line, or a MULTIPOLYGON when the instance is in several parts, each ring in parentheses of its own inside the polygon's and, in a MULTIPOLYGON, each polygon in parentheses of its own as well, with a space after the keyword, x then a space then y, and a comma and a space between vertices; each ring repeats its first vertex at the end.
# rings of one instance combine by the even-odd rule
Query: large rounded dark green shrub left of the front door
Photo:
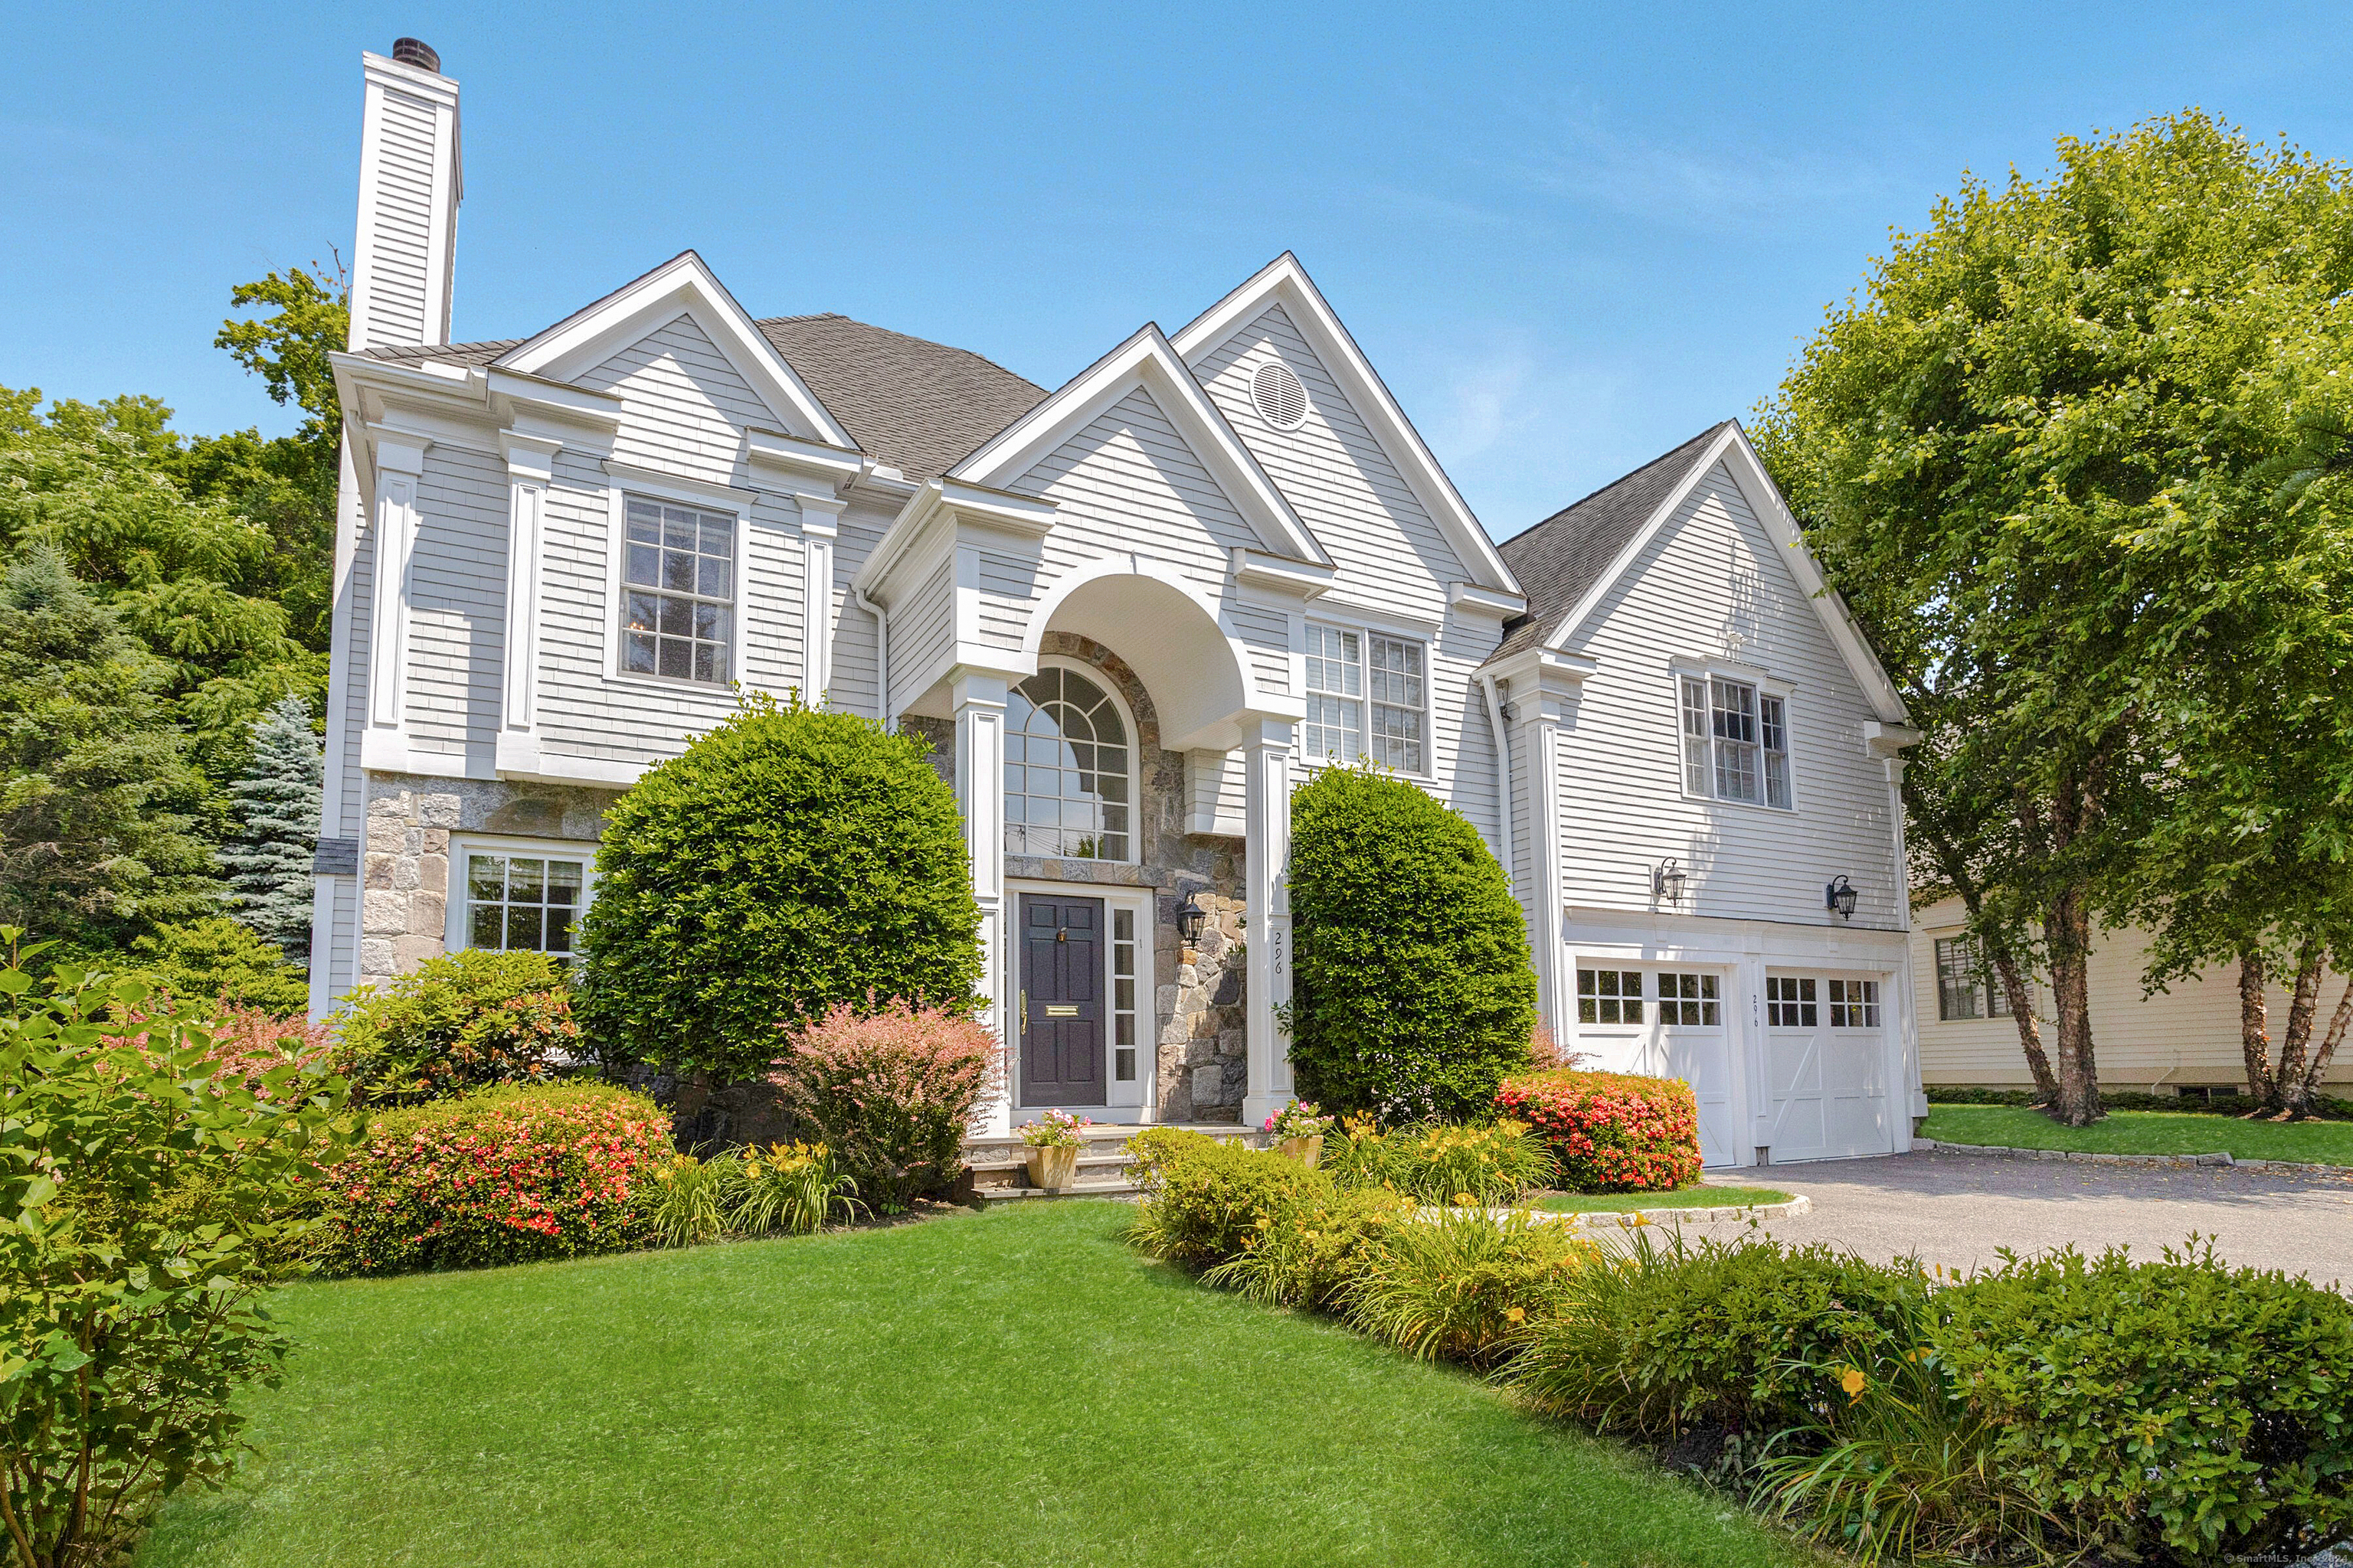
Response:
POLYGON ((955 795, 920 741, 753 696, 607 816, 581 1018, 614 1056, 748 1081, 779 1023, 892 999, 972 1011, 979 919, 955 795))

